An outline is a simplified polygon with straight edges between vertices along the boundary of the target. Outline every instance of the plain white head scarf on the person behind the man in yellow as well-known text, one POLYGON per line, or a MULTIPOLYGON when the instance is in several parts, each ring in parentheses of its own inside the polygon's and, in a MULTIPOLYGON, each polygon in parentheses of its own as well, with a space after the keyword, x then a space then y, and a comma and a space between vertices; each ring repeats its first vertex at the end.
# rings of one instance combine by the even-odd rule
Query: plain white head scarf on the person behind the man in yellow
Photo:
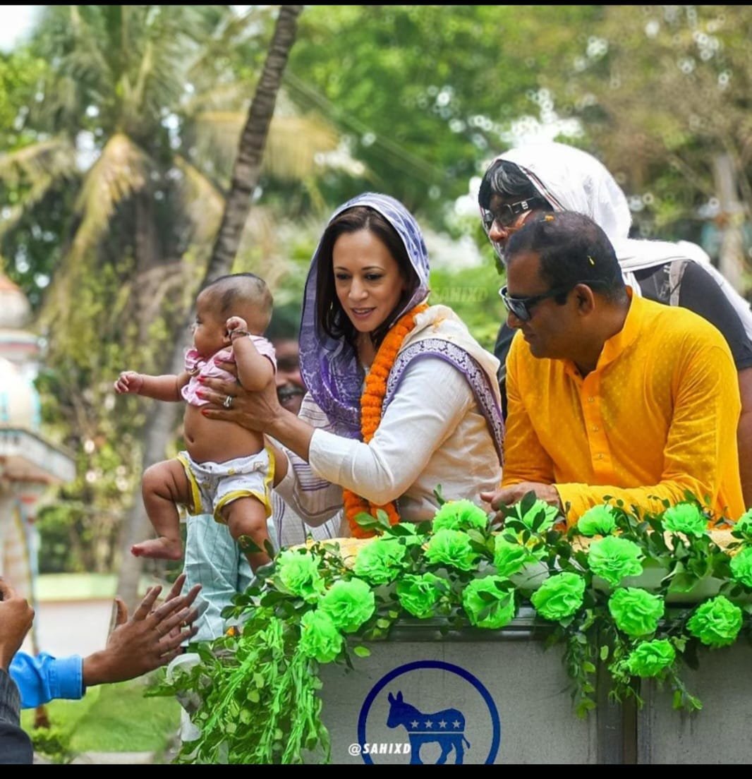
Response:
MULTIPOLYGON (((531 143, 501 154, 497 160, 518 165, 538 192, 557 211, 584 213, 599 225, 617 252, 624 281, 636 294, 634 272, 688 259, 699 263, 718 283, 752 338, 750 304, 722 276, 700 246, 689 241, 638 241, 628 238, 632 215, 624 192, 606 167, 587 152, 564 143, 531 143)), ((496 160, 494 160, 495 162, 496 160)))

